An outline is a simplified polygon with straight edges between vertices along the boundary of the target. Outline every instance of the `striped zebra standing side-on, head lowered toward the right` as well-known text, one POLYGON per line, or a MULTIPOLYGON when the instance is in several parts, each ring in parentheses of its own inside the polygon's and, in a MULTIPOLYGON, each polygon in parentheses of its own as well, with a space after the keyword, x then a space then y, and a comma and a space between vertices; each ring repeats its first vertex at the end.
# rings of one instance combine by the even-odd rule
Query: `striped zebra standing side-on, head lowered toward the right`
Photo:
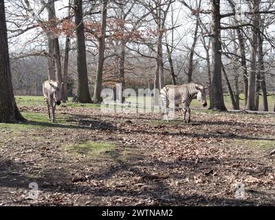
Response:
POLYGON ((190 122, 190 103, 197 98, 203 107, 206 107, 206 87, 197 83, 188 83, 184 85, 166 85, 160 91, 160 97, 164 104, 164 116, 168 120, 168 107, 170 102, 175 105, 182 104, 182 111, 184 113, 184 122, 190 122), (186 113, 188 112, 188 120, 186 121, 186 113))

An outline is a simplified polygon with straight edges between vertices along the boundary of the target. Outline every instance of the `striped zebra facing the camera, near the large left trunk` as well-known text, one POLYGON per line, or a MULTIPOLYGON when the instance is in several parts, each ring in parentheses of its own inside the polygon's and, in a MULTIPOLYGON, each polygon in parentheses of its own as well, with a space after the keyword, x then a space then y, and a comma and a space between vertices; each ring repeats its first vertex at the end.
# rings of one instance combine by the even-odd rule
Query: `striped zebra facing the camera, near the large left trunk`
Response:
POLYGON ((53 80, 46 80, 43 83, 43 95, 44 100, 47 104, 47 112, 49 114, 49 119, 52 119, 52 122, 55 122, 55 113, 56 104, 61 104, 61 90, 63 83, 58 83, 53 80), (52 109, 52 118, 50 109, 52 109))

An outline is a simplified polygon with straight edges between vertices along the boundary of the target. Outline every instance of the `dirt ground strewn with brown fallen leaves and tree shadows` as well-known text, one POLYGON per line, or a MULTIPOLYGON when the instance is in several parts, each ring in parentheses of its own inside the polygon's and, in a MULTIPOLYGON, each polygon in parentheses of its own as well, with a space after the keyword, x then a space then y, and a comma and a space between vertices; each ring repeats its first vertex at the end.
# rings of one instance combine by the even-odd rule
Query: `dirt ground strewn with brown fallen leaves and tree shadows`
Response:
POLYGON ((192 111, 191 124, 180 113, 56 115, 62 122, 0 129, 0 206, 275 205, 274 115, 192 111))

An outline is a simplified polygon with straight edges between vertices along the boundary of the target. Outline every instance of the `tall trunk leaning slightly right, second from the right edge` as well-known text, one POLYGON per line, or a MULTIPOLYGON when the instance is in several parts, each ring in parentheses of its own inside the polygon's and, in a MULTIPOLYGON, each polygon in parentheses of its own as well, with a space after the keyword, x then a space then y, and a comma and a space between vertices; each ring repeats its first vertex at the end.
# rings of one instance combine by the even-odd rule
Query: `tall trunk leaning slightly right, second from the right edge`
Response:
MULTIPOLYGON (((259 0, 253 1, 252 11, 259 10, 259 0)), ((258 28, 259 28, 259 17, 257 14, 252 15, 253 28, 252 28, 252 46, 251 46, 251 70, 248 78, 248 103, 246 109, 255 111, 255 91, 256 91, 256 56, 258 47, 258 28)))

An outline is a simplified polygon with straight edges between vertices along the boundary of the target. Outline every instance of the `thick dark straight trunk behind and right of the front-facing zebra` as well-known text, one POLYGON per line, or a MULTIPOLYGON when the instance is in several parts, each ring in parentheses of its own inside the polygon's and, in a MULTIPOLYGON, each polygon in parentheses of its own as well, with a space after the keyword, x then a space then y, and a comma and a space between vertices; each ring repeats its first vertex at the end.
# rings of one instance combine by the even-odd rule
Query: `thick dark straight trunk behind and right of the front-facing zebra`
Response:
POLYGON ((86 46, 83 23, 82 0, 74 0, 76 38, 77 38, 77 69, 78 69, 78 102, 91 103, 87 74, 86 46))

